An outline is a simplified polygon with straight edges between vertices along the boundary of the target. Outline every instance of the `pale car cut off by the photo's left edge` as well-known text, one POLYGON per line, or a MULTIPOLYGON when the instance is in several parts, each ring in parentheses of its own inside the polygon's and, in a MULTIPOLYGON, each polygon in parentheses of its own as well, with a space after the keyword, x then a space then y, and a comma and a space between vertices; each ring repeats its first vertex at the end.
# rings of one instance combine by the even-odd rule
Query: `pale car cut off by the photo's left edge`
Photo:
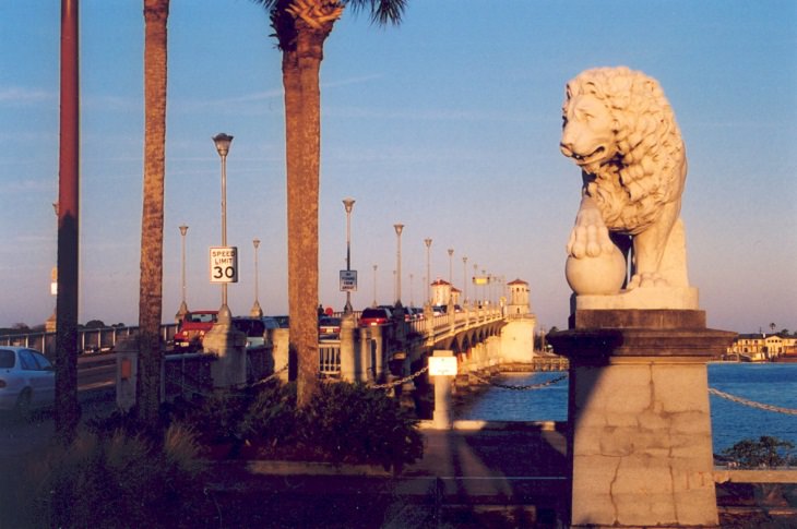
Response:
POLYGON ((25 417, 33 408, 52 406, 56 371, 39 351, 0 347, 0 410, 25 417))

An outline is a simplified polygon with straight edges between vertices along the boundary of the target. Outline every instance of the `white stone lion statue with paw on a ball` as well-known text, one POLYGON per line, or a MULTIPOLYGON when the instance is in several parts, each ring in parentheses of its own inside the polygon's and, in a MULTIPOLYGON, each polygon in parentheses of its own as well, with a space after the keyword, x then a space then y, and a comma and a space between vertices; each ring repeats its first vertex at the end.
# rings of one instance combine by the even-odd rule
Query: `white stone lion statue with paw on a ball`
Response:
POLYGON ((584 71, 568 83, 562 119, 561 152, 581 167, 583 178, 567 247, 568 281, 575 293, 617 293, 623 281, 628 290, 688 287, 680 220, 686 152, 658 83, 624 67, 584 71), (620 259, 620 265, 610 265, 619 285, 612 279, 609 287, 580 292, 579 281, 571 281, 571 275, 603 275, 602 257, 617 260, 629 250, 630 280, 620 259))

